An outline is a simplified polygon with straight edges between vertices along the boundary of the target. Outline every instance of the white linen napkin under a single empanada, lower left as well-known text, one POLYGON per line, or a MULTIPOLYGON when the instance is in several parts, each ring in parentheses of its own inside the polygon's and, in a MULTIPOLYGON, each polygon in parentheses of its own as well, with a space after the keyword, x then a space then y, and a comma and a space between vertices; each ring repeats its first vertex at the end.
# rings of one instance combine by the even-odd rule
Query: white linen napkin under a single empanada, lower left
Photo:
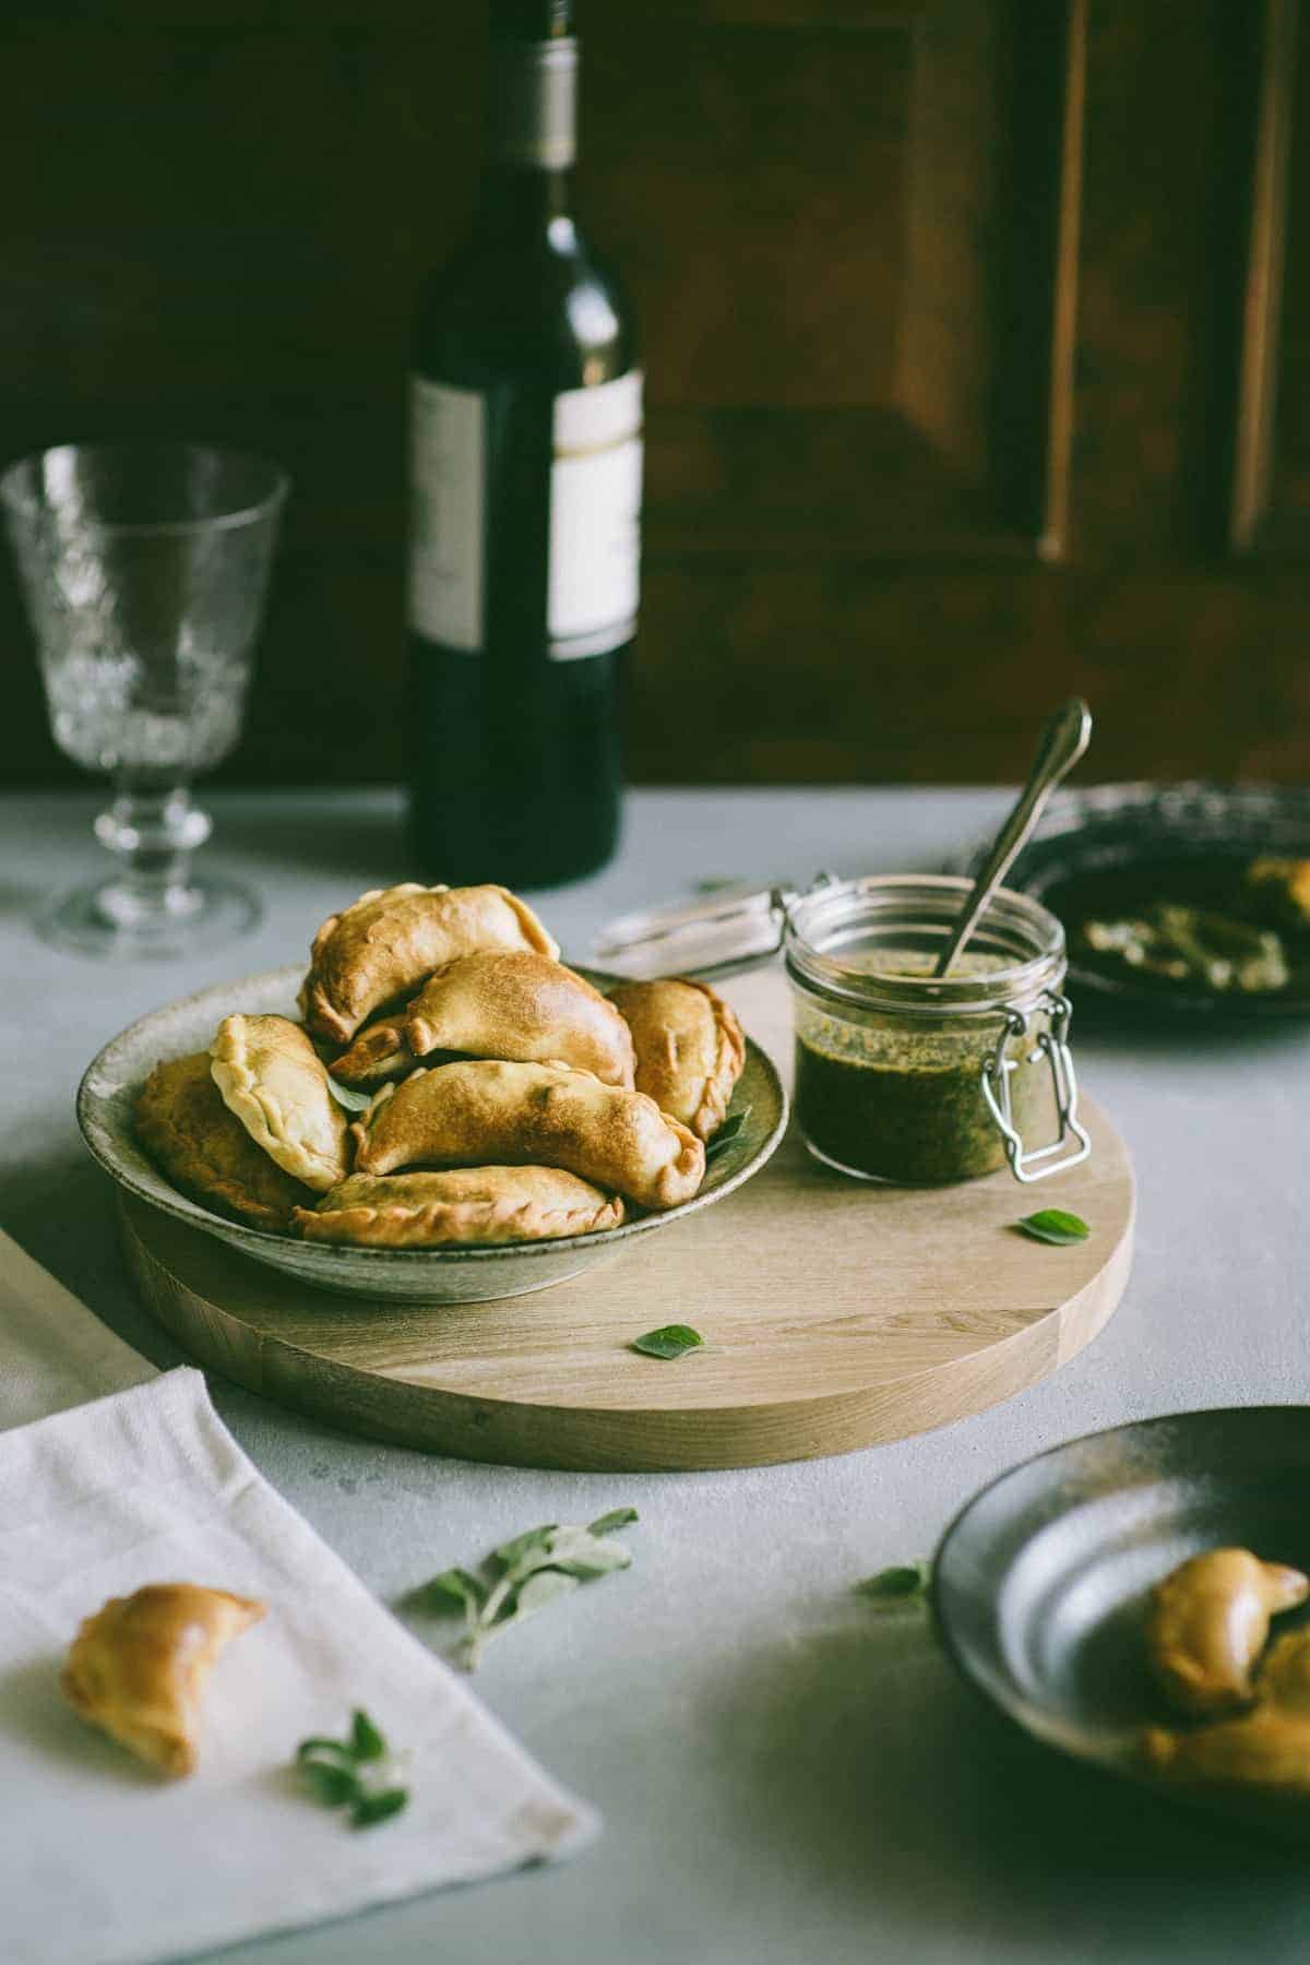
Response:
MULTIPOLYGON (((20 1360, 24 1407, 43 1334, 59 1338, 51 1403, 151 1370, 49 1277, 16 1315, 29 1258, 12 1252, 0 1360, 20 1360)), ((189 1368, 0 1432, 0 1792, 6 1965, 187 1957, 564 1857, 597 1827, 269 1488, 189 1368), (214 1666, 200 1767, 179 1782, 59 1692, 81 1619, 145 1582, 269 1605, 214 1666), (412 1753, 409 1808, 369 1829, 291 1767, 355 1704, 412 1753)))

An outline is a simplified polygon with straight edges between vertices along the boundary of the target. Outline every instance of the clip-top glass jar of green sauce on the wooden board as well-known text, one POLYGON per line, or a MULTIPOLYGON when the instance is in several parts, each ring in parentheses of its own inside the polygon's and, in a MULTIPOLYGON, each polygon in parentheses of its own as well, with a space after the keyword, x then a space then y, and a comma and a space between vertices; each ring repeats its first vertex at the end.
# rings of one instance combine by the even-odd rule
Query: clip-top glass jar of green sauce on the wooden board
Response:
POLYGON ((1068 1053, 1064 931, 998 890, 949 977, 933 967, 970 882, 876 874, 788 896, 795 1118, 817 1159, 896 1185, 1086 1159, 1068 1053))

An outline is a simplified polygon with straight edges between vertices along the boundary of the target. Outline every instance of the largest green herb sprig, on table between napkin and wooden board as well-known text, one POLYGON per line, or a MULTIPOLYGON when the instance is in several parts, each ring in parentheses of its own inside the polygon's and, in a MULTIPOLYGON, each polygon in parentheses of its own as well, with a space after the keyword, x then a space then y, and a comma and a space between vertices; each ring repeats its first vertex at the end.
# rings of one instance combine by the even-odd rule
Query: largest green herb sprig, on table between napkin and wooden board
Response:
POLYGON ((636 1519, 634 1507, 611 1507, 585 1527, 548 1521, 493 1548, 481 1574, 456 1568, 434 1576, 424 1594, 464 1611, 458 1662, 475 1672, 489 1641, 501 1631, 534 1617, 554 1598, 568 1596, 593 1576, 627 1570, 632 1552, 611 1535, 636 1519))

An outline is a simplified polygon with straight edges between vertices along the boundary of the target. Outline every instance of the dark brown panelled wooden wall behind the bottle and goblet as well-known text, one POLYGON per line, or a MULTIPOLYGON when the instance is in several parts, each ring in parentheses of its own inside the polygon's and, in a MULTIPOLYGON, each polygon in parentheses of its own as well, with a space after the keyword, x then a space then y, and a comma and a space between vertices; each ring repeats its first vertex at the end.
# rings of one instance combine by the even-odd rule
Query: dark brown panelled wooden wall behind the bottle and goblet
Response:
MULTIPOLYGON (((646 780, 1310 776, 1300 0, 581 0, 583 210, 648 346, 646 780), (1288 250, 1288 242, 1292 242, 1288 250)), ((475 0, 10 0, 0 452, 297 481, 226 774, 399 772, 410 295, 475 0)), ((0 776, 63 766, 8 558, 0 776)))

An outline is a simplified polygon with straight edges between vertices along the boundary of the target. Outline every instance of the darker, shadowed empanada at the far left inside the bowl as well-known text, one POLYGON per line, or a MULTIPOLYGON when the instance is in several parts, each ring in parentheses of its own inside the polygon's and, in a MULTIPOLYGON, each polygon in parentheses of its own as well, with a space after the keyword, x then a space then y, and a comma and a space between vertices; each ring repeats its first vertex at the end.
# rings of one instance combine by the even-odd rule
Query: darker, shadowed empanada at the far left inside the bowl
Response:
POLYGON ((257 1228, 287 1228, 291 1210, 310 1199, 228 1112, 208 1051, 155 1065, 136 1102, 136 1130, 177 1187, 257 1228))

